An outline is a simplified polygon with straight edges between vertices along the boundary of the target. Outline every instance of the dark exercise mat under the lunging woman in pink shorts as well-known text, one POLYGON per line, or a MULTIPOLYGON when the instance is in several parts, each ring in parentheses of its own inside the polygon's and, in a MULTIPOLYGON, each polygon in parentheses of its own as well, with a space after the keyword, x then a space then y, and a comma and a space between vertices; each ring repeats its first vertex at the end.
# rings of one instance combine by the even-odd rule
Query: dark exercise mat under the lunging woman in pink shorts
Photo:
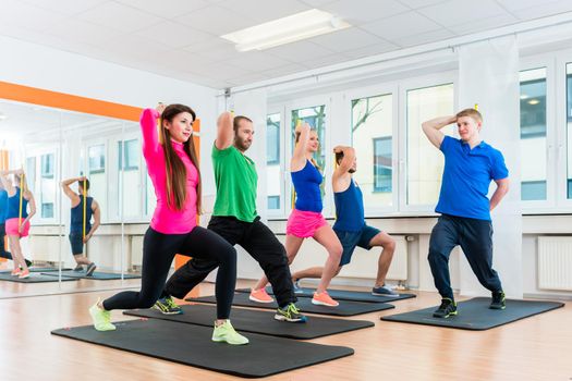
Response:
MULTIPOLYGON (((188 302, 202 302, 202 303, 211 303, 216 304, 217 299, 215 296, 204 296, 197 298, 188 298, 188 302)), ((278 305, 276 302, 272 303, 256 303, 248 299, 248 294, 236 293, 234 294, 234 300, 232 302, 234 306, 244 306, 244 307, 258 307, 266 309, 277 309, 278 305)), ((315 306, 312 304, 309 297, 301 297, 296 306, 307 314, 319 314, 319 315, 331 315, 331 316, 354 316, 361 314, 382 311, 385 309, 395 308, 395 306, 388 305, 385 303, 360 303, 360 302, 350 302, 341 300, 338 307, 326 307, 326 306, 315 306)))

